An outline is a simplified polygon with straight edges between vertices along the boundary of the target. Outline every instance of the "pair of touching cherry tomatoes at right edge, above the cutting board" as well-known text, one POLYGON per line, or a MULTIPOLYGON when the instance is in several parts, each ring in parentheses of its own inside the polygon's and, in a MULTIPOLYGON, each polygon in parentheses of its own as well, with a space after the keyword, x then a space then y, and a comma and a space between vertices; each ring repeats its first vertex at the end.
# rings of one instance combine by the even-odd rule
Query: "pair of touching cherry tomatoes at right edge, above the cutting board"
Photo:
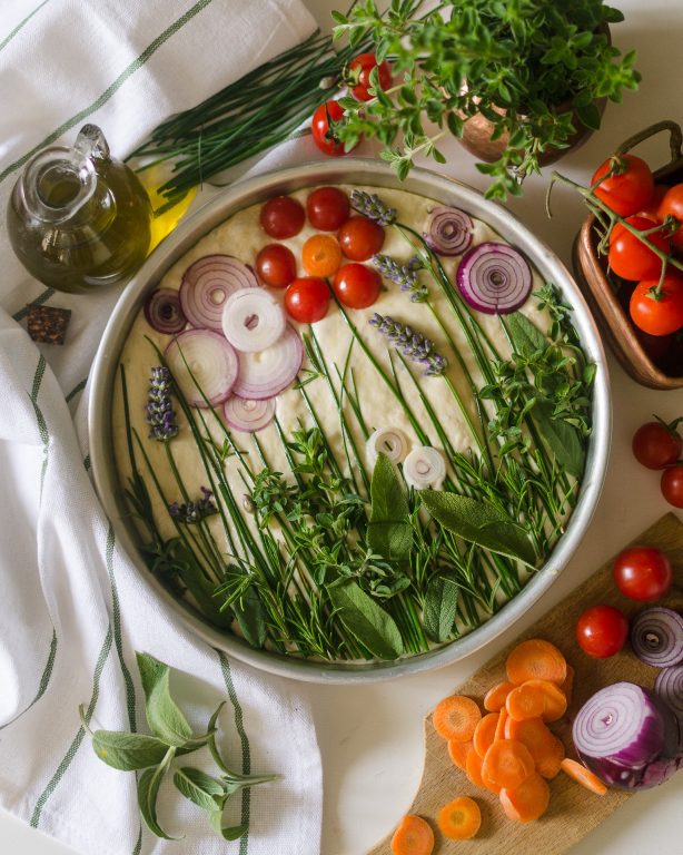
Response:
POLYGON ((633 434, 633 456, 647 469, 663 470, 660 481, 662 495, 674 508, 683 508, 683 439, 676 430, 683 419, 666 423, 642 424, 633 434))

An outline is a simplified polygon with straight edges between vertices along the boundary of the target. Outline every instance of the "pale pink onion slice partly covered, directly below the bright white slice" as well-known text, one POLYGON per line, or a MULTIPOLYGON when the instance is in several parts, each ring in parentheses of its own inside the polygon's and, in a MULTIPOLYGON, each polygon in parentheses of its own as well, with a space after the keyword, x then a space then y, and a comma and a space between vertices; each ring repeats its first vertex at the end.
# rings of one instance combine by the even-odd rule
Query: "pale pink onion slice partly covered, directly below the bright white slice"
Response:
POLYGON ((297 331, 286 324, 275 344, 256 353, 240 352, 239 373, 232 392, 240 397, 260 401, 274 397, 294 381, 304 360, 304 344, 297 331))

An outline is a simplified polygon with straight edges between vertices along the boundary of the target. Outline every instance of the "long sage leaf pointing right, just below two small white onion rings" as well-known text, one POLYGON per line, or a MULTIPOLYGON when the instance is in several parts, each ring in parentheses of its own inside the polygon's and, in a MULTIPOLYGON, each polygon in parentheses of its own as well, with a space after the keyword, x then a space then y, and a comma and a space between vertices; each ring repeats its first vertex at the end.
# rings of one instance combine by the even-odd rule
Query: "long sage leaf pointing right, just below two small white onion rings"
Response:
POLYGON ((524 529, 493 504, 441 490, 418 492, 425 508, 447 531, 492 552, 534 566, 536 553, 524 529))

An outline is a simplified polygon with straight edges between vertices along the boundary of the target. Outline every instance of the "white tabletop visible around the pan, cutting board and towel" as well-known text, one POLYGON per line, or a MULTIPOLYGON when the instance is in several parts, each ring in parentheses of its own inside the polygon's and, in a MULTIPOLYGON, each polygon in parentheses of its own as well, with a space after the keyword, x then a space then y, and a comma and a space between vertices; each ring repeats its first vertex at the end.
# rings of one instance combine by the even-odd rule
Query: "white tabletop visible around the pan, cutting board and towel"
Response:
MULTIPOLYGON (((683 3, 681 0, 615 0, 626 16, 613 27, 614 42, 635 48, 643 81, 624 104, 610 104, 603 130, 557 168, 585 184, 616 144, 663 118, 683 121, 683 3)), ((329 11, 344 8, 336 0, 308 0, 321 27, 329 11)), ((441 171, 478 188, 482 176, 474 159, 455 142, 444 146, 448 164, 441 171)), ((663 164, 663 138, 639 149, 653 165, 663 164)), ((509 208, 544 239, 567 265, 574 235, 585 209, 566 188, 553 197, 547 219, 544 196, 548 170, 525 184, 524 198, 509 208)), ((453 691, 486 659, 544 615, 580 581, 630 539, 671 510, 660 495, 659 478, 632 458, 634 430, 652 413, 683 415, 683 391, 655 392, 633 382, 610 356, 614 432, 604 491, 587 534, 554 587, 514 628, 485 650, 438 671, 363 687, 300 685, 313 705, 325 778, 325 809, 320 855, 363 855, 384 837, 406 812, 416 792, 423 763, 422 719, 442 697, 453 691)), ((683 514, 679 512, 683 519, 683 514)), ((681 855, 683 774, 666 785, 639 794, 573 849, 575 855, 681 855)), ((577 816, 581 823, 582 817, 577 816)), ((21 855, 67 855, 71 849, 29 829, 0 812, 0 851, 21 855)), ((178 852, 180 853, 181 844, 178 852)), ((477 852, 476 841, 469 851, 477 852)), ((96 855, 96 854, 92 854, 96 855)), ((274 853, 274 855, 277 855, 274 853)))

